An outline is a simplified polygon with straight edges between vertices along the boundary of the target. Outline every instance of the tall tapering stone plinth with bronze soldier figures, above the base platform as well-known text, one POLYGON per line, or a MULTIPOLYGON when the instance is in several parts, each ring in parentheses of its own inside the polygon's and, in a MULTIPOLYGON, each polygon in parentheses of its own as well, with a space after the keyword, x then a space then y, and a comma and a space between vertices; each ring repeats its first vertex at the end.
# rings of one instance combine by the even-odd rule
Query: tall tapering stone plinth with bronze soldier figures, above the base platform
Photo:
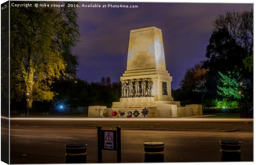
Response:
POLYGON ((120 78, 126 83, 117 106, 155 106, 154 101, 173 101, 171 96, 170 73, 166 71, 162 32, 156 27, 140 28, 130 31, 127 69, 120 78), (139 84, 136 91, 136 83, 139 84), (145 81, 145 92, 142 83, 145 81), (152 82, 152 87, 149 87, 152 82), (132 92, 128 87, 133 84, 132 92), (151 88, 151 89, 149 89, 151 88), (128 98, 128 99, 127 99, 128 98), (137 105, 136 105, 137 104, 137 105))

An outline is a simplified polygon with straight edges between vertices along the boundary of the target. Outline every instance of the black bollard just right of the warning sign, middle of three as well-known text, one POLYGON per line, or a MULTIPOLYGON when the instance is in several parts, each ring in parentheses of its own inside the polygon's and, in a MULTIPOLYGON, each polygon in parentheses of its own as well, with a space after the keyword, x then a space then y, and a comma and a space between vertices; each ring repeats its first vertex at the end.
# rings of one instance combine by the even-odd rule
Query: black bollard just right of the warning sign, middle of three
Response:
POLYGON ((163 142, 145 142, 145 163, 164 162, 164 143, 163 142))

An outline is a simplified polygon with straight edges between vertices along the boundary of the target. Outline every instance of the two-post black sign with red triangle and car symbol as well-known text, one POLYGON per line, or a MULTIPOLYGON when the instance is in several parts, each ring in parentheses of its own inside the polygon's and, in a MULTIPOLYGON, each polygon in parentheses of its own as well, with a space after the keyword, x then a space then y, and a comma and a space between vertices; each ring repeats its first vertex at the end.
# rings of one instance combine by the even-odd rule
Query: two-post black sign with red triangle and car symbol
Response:
POLYGON ((117 163, 121 163, 121 127, 116 130, 102 130, 97 127, 98 135, 98 163, 102 163, 102 150, 112 150, 116 152, 117 163))

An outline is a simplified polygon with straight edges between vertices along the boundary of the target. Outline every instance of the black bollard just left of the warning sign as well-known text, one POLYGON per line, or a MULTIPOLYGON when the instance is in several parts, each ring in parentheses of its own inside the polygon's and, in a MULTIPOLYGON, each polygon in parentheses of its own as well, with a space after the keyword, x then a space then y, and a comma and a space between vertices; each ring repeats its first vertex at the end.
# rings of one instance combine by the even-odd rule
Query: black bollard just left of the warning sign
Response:
POLYGON ((66 163, 86 163, 87 144, 66 144, 66 163))

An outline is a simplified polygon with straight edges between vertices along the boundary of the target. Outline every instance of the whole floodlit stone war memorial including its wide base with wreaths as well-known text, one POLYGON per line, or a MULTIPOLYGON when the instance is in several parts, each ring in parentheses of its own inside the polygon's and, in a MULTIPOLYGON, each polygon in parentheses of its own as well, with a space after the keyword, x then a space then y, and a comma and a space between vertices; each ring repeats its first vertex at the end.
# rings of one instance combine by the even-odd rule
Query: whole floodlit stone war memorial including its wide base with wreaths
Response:
POLYGON ((166 70, 161 29, 145 27, 130 31, 126 71, 120 78, 119 102, 89 106, 89 118, 177 118, 202 115, 199 104, 180 106, 171 95, 172 77, 166 70))

